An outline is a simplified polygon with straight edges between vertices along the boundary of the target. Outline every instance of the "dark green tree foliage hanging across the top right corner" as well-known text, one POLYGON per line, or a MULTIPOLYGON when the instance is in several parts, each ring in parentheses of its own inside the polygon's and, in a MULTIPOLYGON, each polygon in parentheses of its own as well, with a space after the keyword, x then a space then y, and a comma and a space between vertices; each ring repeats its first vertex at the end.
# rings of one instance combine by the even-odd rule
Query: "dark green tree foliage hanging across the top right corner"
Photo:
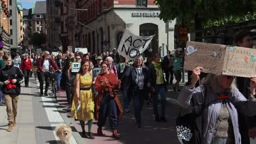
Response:
POLYGON ((255 0, 155 0, 165 22, 177 17, 191 25, 195 16, 202 18, 202 26, 220 26, 255 18, 255 0))

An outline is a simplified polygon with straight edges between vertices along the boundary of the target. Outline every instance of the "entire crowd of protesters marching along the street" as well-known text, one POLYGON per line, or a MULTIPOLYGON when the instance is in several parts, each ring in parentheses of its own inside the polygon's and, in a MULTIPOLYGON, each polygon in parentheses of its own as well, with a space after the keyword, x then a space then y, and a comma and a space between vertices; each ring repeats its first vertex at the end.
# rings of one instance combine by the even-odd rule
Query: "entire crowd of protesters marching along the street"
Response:
MULTIPOLYGON (((237 34, 235 41, 238 46, 251 48, 252 45, 246 45, 247 43, 251 44, 251 39, 249 39, 251 37, 252 35, 250 33, 242 31, 237 34), (245 38, 248 38, 248 40, 243 41, 245 38)), ((122 117, 123 107, 118 97, 119 89, 123 92, 125 112, 131 111, 130 103, 132 101, 137 128, 141 128, 142 125, 141 111, 145 100, 148 100, 148 104, 153 103, 152 112, 154 113, 155 121, 167 122, 166 92, 167 86, 171 85, 173 91, 181 92, 178 101, 184 107, 191 106, 190 101, 195 96, 198 104, 203 104, 205 102, 204 97, 206 96, 202 93, 205 93, 206 89, 207 99, 215 97, 218 92, 234 97, 234 99, 236 99, 232 101, 234 105, 227 105, 229 102, 225 101, 225 103, 223 103, 222 100, 219 100, 219 103, 208 104, 209 108, 207 108, 207 110, 212 109, 211 112, 216 112, 214 115, 211 113, 203 113, 202 116, 208 117, 211 115, 213 119, 217 119, 217 122, 215 122, 215 120, 212 122, 209 119, 206 121, 205 124, 211 125, 211 129, 204 127, 205 125, 203 126, 204 136, 202 141, 203 143, 209 143, 209 139, 214 135, 216 136, 213 139, 214 141, 230 141, 230 143, 234 143, 241 139, 241 141, 247 143, 248 135, 254 137, 256 133, 253 124, 249 124, 249 130, 247 129, 248 124, 245 124, 243 114, 253 116, 252 114, 256 113, 254 108, 252 109, 252 107, 256 105, 256 100, 253 97, 255 88, 252 87, 256 85, 256 77, 251 77, 251 87, 249 87, 249 79, 237 78, 239 82, 237 83, 237 88, 241 93, 238 92, 238 89, 234 85, 235 81, 233 82, 233 80, 236 78, 234 76, 211 74, 205 79, 205 85, 197 87, 196 82, 199 80, 199 76, 202 76, 200 74, 203 69, 198 67, 193 70, 191 81, 189 81, 181 91, 179 82, 181 82, 182 79, 181 64, 183 55, 184 53, 178 50, 173 51, 173 54, 171 51, 167 51, 167 55, 164 57, 161 57, 160 53, 154 53, 154 55, 147 57, 144 63, 144 56, 139 55, 134 61, 128 62, 117 53, 116 49, 113 49, 110 53, 104 52, 102 54, 73 53, 67 51, 65 53, 59 52, 56 56, 49 51, 38 53, 38 55, 25 53, 20 56, 17 53, 12 60, 10 56, 4 55, 3 51, 0 51, 0 68, 2 69, 0 72, 0 86, 2 86, 2 91, 0 91, 0 105, 7 106, 9 121, 8 131, 11 131, 13 126, 16 125, 15 118, 18 95, 20 94, 20 83, 25 81, 25 87, 29 87, 30 77, 34 76, 34 80, 40 84, 40 96, 48 96, 50 72, 57 71, 57 93, 62 93, 63 90, 66 91, 68 109, 71 109, 71 116, 79 120, 83 135, 89 139, 95 139, 91 131, 93 119, 95 118, 97 120, 97 134, 104 135, 102 127, 106 123, 107 117, 109 118, 110 128, 113 130, 113 137, 120 137, 118 134, 118 121, 122 117), (73 62, 80 63, 80 70, 78 72, 72 71, 73 62), (124 69, 121 63, 125 65, 124 69), (15 68, 13 68, 13 66, 15 66, 15 68), (17 67, 20 69, 17 69, 17 67), (95 69, 97 69, 97 71, 95 71, 95 69), (13 70, 16 77, 4 76, 4 74, 7 73, 6 71, 10 70, 13 70), (176 82, 173 85, 174 78, 176 82), (45 88, 43 87, 44 83, 45 88), (9 89, 9 87, 13 87, 13 85, 16 87, 10 90, 11 88, 9 89), (159 95, 161 101, 160 113, 158 111, 159 95), (78 106, 81 107, 79 110, 77 110, 78 106), (12 109, 12 107, 14 107, 14 109, 12 109), (216 107, 218 107, 218 109, 216 109, 216 107), (219 111, 220 108, 223 109, 223 111, 217 115, 217 111, 219 111), (228 111, 229 109, 232 110, 233 113, 228 111), (224 114, 227 115, 227 117, 220 116, 224 114), (231 115, 235 117, 231 117, 231 115), (236 121, 236 123, 232 123, 230 117, 231 120, 236 121), (240 120, 238 121, 238 119, 240 120), (88 133, 85 132, 85 121, 88 121, 88 133), (225 124, 220 124, 219 121, 224 121, 225 124), (219 123, 219 126, 216 127, 215 123, 219 123), (240 128, 241 125, 243 125, 243 128, 240 128), (213 130, 214 128, 217 128, 215 133, 210 133, 209 129, 213 130), (230 128, 232 128, 232 130, 230 130, 230 128), (237 133, 237 130, 243 134, 242 137, 240 133, 237 133)), ((249 121, 253 118, 254 117, 246 117, 246 120, 249 121)))

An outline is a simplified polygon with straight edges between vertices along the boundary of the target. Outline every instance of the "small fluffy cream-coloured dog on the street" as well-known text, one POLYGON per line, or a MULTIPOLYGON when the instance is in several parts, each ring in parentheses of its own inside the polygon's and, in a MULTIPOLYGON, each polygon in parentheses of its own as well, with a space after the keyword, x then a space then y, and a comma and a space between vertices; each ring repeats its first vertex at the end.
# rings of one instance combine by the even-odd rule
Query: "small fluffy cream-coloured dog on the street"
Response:
POLYGON ((62 143, 69 143, 72 136, 72 129, 68 125, 61 125, 55 129, 56 135, 59 137, 62 143))

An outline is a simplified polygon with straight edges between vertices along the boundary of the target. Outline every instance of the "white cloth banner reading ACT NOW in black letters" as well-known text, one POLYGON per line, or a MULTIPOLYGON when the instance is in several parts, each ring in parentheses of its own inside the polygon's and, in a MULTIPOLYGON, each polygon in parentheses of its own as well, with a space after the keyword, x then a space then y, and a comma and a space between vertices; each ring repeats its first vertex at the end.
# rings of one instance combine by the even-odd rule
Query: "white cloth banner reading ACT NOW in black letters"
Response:
POLYGON ((136 59, 147 49, 154 36, 139 37, 126 28, 117 52, 125 57, 126 61, 136 59))

